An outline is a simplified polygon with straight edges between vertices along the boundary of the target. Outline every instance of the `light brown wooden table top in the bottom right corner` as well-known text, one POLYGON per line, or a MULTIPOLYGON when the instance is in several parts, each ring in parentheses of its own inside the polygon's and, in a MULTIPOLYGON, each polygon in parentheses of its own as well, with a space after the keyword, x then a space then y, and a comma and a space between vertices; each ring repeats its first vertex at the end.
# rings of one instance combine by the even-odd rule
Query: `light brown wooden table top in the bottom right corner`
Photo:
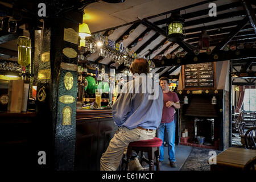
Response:
POLYGON ((242 169, 255 156, 256 150, 230 147, 217 155, 217 165, 242 169))

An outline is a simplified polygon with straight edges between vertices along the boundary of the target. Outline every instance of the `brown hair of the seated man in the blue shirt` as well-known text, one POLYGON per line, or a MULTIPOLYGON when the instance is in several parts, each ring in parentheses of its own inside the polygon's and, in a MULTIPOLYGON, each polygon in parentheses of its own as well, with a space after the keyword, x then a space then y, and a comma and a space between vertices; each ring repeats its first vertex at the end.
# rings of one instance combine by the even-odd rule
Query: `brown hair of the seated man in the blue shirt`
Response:
POLYGON ((131 64, 130 71, 133 74, 138 73, 139 75, 141 75, 141 73, 149 73, 150 69, 148 61, 143 58, 135 59, 134 62, 131 64))

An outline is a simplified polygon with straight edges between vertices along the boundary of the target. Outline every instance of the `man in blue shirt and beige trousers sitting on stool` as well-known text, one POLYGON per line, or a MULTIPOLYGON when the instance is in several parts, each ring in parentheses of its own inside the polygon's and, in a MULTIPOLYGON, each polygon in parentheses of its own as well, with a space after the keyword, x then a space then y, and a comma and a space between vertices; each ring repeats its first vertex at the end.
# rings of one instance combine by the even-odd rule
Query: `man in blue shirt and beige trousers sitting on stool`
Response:
POLYGON ((153 139, 160 125, 163 91, 159 82, 152 82, 146 76, 149 73, 147 60, 135 59, 130 71, 134 80, 123 86, 113 105, 113 119, 119 129, 102 154, 101 171, 115 171, 129 143, 153 139))

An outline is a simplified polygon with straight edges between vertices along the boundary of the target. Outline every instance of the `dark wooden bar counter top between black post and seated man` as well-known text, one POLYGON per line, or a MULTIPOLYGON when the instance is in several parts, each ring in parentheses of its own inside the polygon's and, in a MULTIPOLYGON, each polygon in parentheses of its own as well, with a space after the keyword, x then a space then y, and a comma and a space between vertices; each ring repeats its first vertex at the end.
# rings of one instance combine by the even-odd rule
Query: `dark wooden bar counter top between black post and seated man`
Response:
POLYGON ((112 118, 112 109, 88 109, 76 110, 76 120, 97 119, 97 118, 112 118))

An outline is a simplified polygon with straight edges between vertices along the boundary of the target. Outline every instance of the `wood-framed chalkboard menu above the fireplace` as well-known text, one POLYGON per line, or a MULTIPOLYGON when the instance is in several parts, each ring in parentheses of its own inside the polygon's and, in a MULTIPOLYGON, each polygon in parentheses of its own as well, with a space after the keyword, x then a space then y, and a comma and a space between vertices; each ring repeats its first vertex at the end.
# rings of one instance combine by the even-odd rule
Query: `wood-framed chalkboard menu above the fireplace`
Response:
POLYGON ((214 73, 214 63, 184 65, 184 88, 214 88, 214 73))

